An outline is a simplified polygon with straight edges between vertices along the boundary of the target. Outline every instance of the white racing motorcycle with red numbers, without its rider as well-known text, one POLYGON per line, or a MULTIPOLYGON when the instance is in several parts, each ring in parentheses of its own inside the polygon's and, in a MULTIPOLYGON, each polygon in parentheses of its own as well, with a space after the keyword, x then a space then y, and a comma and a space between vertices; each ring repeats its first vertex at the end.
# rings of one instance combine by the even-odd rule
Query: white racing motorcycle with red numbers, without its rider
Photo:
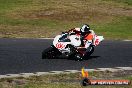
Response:
MULTIPOLYGON (((97 36, 94 33, 92 44, 86 49, 81 45, 81 36, 74 33, 63 32, 57 35, 53 40, 53 45, 42 52, 42 59, 55 59, 65 56, 68 59, 77 61, 84 60, 94 52, 94 47, 103 41, 103 36, 97 36)), ((86 44, 85 40, 83 40, 86 44)))

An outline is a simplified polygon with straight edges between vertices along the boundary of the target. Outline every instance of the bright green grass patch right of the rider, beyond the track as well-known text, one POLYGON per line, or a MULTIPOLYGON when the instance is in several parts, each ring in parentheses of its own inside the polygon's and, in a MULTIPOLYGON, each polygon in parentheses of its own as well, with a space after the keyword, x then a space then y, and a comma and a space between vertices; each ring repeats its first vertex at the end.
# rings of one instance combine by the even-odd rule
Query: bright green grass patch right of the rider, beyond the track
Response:
POLYGON ((122 17, 111 23, 95 28, 97 33, 108 39, 132 39, 132 17, 122 17))

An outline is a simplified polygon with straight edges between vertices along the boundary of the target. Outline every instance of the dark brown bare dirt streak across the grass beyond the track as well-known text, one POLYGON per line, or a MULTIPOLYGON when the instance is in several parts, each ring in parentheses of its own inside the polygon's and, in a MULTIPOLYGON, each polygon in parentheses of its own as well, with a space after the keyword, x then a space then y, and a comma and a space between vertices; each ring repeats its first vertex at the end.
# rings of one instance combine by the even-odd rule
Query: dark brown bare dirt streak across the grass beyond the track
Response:
POLYGON ((95 19, 102 18, 107 19, 108 15, 105 13, 98 13, 94 11, 59 11, 59 10, 39 10, 39 11, 31 11, 28 14, 21 15, 24 18, 31 19, 54 19, 54 20, 62 20, 62 21, 80 21, 80 20, 88 20, 92 21, 95 19), (106 16, 104 16, 106 15, 106 16))

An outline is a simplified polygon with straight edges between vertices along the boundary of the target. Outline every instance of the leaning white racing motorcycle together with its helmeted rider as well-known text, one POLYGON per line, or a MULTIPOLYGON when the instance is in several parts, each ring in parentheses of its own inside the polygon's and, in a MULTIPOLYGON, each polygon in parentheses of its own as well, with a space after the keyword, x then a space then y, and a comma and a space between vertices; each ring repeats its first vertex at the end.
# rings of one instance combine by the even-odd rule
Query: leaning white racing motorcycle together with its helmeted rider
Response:
POLYGON ((81 28, 74 28, 57 35, 53 44, 42 52, 42 58, 60 58, 66 56, 68 59, 77 61, 88 58, 94 47, 104 40, 85 24, 81 28))

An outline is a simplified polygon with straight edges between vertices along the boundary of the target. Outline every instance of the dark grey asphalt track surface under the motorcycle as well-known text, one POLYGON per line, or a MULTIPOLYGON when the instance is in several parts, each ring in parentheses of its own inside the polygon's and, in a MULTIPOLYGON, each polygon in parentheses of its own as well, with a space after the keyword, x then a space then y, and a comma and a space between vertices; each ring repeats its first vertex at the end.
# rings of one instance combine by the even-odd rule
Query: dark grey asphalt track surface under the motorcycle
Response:
POLYGON ((0 39, 0 75, 132 66, 131 41, 103 41, 84 61, 41 59, 50 39, 0 39))

